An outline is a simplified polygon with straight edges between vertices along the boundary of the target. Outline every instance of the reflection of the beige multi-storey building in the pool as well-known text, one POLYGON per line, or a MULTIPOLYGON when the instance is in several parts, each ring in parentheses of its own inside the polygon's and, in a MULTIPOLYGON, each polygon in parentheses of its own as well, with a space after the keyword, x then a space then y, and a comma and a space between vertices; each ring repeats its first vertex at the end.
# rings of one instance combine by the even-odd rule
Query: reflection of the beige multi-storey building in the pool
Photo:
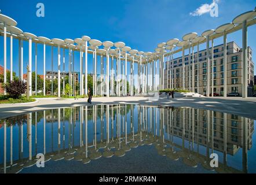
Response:
MULTIPOLYGON (((176 108, 173 117, 169 110, 164 111, 164 123, 167 124, 167 115, 172 119, 173 133, 175 136, 182 137, 183 114, 185 113, 185 139, 200 143, 203 146, 210 146, 213 141, 214 150, 224 151, 228 154, 235 154, 239 148, 243 147, 243 128, 242 117, 235 114, 225 114, 210 110, 199 110, 192 108, 176 108), (184 112, 185 111, 185 112, 184 112), (192 115, 193 114, 193 115, 192 115), (225 122, 226 116, 226 122, 225 122), (193 126, 194 125, 194 126, 193 126), (225 127, 226 125, 226 127, 225 127), (193 127, 193 128, 192 128, 193 127), (224 130, 226 128, 226 131, 224 130), (226 132, 226 138, 225 138, 226 132), (214 139, 212 139, 214 138, 214 139), (224 140, 226 139, 226 142, 224 140)), ((254 132, 254 120, 247 120, 247 148, 252 147, 252 135, 254 132)))

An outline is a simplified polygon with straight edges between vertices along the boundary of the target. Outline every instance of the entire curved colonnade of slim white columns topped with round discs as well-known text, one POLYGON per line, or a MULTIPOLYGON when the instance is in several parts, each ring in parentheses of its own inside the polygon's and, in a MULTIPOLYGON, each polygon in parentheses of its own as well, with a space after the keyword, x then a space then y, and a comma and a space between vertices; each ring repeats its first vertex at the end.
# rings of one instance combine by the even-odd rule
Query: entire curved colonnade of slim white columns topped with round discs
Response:
MULTIPOLYGON (((207 43, 207 92, 206 95, 209 96, 210 92, 211 95, 214 95, 214 80, 213 80, 213 73, 214 73, 214 52, 213 52, 213 41, 214 39, 224 37, 224 97, 226 97, 226 85, 227 85, 227 66, 226 66, 226 36, 228 34, 231 34, 233 32, 239 31, 242 29, 243 35, 243 54, 242 54, 242 64, 243 64, 243 74, 242 74, 242 90, 243 90, 243 98, 247 97, 247 86, 248 86, 248 79, 247 79, 247 62, 246 62, 246 54, 247 54, 247 28, 251 25, 256 24, 256 12, 255 10, 251 10, 249 12, 245 12, 240 14, 239 16, 235 17, 232 21, 232 23, 224 24, 218 27, 217 29, 209 29, 207 31, 204 31, 202 36, 197 36, 195 32, 192 32, 190 34, 186 34, 183 36, 183 40, 179 42, 178 39, 171 39, 167 43, 163 42, 158 45, 158 48, 155 49, 155 53, 150 52, 138 52, 137 50, 131 50, 130 47, 125 46, 125 43, 123 42, 116 42, 115 44, 111 41, 106 41, 104 43, 101 43, 100 40, 96 39, 90 39, 89 36, 82 36, 82 38, 75 39, 76 46, 74 45, 74 40, 72 39, 47 39, 43 36, 36 37, 36 35, 31 34, 29 32, 21 31, 21 29, 17 28, 17 22, 13 20, 12 18, 5 16, 3 14, 0 14, 0 29, 3 30, 3 32, 0 32, 0 35, 3 36, 3 83, 6 83, 6 60, 7 60, 7 49, 6 49, 6 38, 10 38, 10 80, 13 79, 12 71, 13 71, 13 39, 19 40, 19 79, 23 80, 23 41, 28 41, 28 87, 29 87, 29 94, 32 94, 32 57, 35 57, 35 71, 37 71, 37 64, 38 64, 38 58, 37 58, 37 45, 43 44, 43 95, 46 95, 45 92, 45 71, 46 71, 46 46, 52 47, 52 72, 53 72, 53 47, 58 47, 58 97, 60 97, 60 49, 63 49, 63 72, 65 72, 65 50, 69 50, 69 83, 71 87, 73 87, 73 94, 75 94, 75 75, 72 75, 74 73, 74 66, 75 66, 75 57, 74 54, 76 51, 79 51, 81 53, 80 58, 80 94, 88 94, 88 87, 87 87, 87 71, 88 71, 88 60, 87 60, 87 54, 93 54, 93 95, 98 95, 97 92, 97 56, 100 56, 100 53, 97 53, 98 50, 105 50, 105 53, 102 55, 103 57, 106 57, 107 61, 107 69, 105 69, 106 78, 105 83, 106 85, 106 95, 109 97, 109 92, 111 92, 111 95, 114 95, 114 60, 116 60, 116 95, 120 96, 120 79, 122 78, 122 84, 125 84, 123 87, 123 93, 122 95, 126 95, 126 80, 127 80, 127 62, 130 61, 130 93, 131 95, 134 94, 134 63, 137 63, 138 65, 138 92, 148 92, 148 90, 156 90, 158 80, 159 80, 159 90, 162 90, 164 88, 164 57, 168 57, 167 60, 167 72, 170 79, 167 79, 167 82, 169 82, 169 88, 174 87, 173 82, 173 54, 178 53, 182 51, 182 89, 185 90, 185 56, 184 56, 184 50, 189 49, 189 90, 195 91, 195 74, 194 74, 194 54, 193 54, 193 47, 198 46, 199 51, 199 45, 206 42, 207 43), (206 39, 205 39, 206 38, 206 39), (209 51, 209 41, 211 39, 212 42, 212 65, 211 65, 211 73, 212 76, 210 78, 210 51, 209 51), (32 43, 35 43, 35 56, 32 56, 32 43), (88 42, 90 44, 90 47, 88 47, 88 42), (104 46, 103 49, 99 48, 101 45, 104 46), (111 47, 115 46, 116 50, 111 49, 111 47), (175 46, 182 47, 182 49, 177 49, 174 51, 175 46), (192 47, 192 62, 191 62, 191 47, 192 47), (169 50, 165 51, 165 49, 169 50), (83 63, 83 53, 85 53, 85 63, 83 63), (130 56, 129 56, 129 54, 130 56), (138 55, 137 55, 138 54, 138 55), (111 73, 109 73, 109 56, 111 56, 111 73), (125 62, 123 62, 125 61, 125 62), (159 64, 157 63, 159 62, 159 64), (121 65, 122 63, 122 65, 121 65), (191 69, 192 65, 192 69, 191 69), (149 70, 150 69, 150 70, 149 70), (159 78, 156 77, 159 73, 159 78), (122 75, 122 76, 121 76, 122 75), (149 75, 152 75, 152 82, 151 79, 148 78, 149 75), (83 82, 83 79, 85 76, 85 82, 83 82), (110 90, 109 90, 109 77, 110 77, 110 90), (154 79, 155 77, 155 79, 154 79), (192 79, 191 79, 192 78, 192 79), (210 91, 210 79, 211 79, 211 91, 210 91), (192 81, 192 87, 191 87, 191 81, 192 81), (151 88, 152 86, 152 88, 151 88), (149 88, 148 88, 149 87, 149 88)), ((103 58, 102 57, 102 58, 103 58)), ((199 57, 198 57, 199 58, 199 57)), ((199 59, 198 59, 199 61, 199 59)), ((101 62, 101 65, 104 63, 101 62)), ((104 65, 103 65, 104 66, 104 65)), ((101 75, 103 75, 103 67, 101 68, 101 75)), ((37 72, 36 72, 37 74, 37 72)), ((52 73, 52 79, 53 79, 53 73, 52 73)), ((9 80, 9 79, 8 79, 9 80)), ((63 79, 64 80, 64 79, 63 79)), ((101 77, 102 80, 102 77, 101 77)), ((52 80, 53 81, 53 80, 52 80)), ((199 92, 199 79, 196 80, 198 84, 198 92, 199 92)), ((102 87, 103 84, 101 84, 102 87)), ((63 83, 63 93, 64 93, 65 83, 63 83)), ((37 84, 35 84, 35 90, 37 92, 37 84)), ((52 92, 53 92, 53 82, 52 82, 52 92)), ((202 92, 203 93, 203 92, 202 92)), ((6 93, 5 93, 6 94, 6 93)), ((103 95, 103 88, 101 88, 101 95, 103 95)), ((71 95, 71 92, 70 92, 71 95)))

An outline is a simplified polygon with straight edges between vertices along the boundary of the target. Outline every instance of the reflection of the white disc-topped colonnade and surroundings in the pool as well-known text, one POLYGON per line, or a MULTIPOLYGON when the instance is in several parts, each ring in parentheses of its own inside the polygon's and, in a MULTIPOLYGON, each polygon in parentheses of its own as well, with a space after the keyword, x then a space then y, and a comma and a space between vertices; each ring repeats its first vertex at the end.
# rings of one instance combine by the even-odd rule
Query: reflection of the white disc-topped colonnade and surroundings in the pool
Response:
POLYGON ((247 150, 253 146, 253 120, 193 108, 81 106, 29 113, 24 122, 19 125, 19 132, 13 132, 13 125, 3 120, 0 166, 4 173, 35 165, 36 153, 45 154, 46 161, 78 160, 87 164, 100 157, 122 157, 135 147, 152 144, 160 156, 181 159, 193 167, 201 164, 207 170, 213 169, 209 156, 217 150, 223 161, 219 161, 215 171, 247 173, 247 150), (34 124, 38 119, 41 121, 34 124), (47 123, 52 123, 52 127, 46 127, 47 123), (174 137, 181 138, 182 144, 174 137), (206 153, 200 152, 199 146, 206 153), (240 148, 242 169, 236 169, 228 165, 227 155, 235 155, 240 148))

